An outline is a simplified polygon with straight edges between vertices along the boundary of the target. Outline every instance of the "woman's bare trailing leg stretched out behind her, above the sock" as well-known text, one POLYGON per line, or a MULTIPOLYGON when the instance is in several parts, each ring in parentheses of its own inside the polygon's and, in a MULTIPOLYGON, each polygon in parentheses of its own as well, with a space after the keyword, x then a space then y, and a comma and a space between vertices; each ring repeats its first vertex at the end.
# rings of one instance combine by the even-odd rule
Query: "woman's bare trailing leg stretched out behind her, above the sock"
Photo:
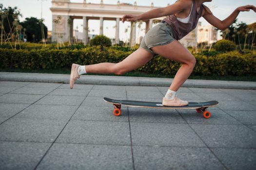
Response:
POLYGON ((87 65, 85 68, 87 73, 114 73, 120 75, 145 65, 153 56, 153 53, 139 48, 119 63, 99 63, 87 65))

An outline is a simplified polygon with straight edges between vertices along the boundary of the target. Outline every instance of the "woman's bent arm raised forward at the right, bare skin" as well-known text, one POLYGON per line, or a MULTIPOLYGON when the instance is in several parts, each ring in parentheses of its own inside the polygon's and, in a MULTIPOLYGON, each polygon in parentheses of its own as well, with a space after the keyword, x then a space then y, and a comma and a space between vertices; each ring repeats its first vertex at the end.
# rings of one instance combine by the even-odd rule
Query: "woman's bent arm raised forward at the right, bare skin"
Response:
POLYGON ((217 29, 225 30, 235 21, 236 17, 240 12, 250 11, 250 9, 256 12, 256 7, 253 5, 241 6, 236 8, 236 10, 229 17, 224 20, 220 20, 212 14, 208 7, 204 6, 204 14, 202 17, 204 17, 210 24, 215 26, 217 29))

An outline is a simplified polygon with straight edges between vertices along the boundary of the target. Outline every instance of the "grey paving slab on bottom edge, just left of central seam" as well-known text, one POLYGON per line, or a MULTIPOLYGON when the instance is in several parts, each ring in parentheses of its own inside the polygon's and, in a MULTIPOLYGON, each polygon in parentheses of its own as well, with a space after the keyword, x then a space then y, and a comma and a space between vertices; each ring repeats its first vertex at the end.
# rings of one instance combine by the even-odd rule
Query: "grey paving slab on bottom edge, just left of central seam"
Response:
POLYGON ((132 170, 130 146, 55 143, 37 170, 132 170))

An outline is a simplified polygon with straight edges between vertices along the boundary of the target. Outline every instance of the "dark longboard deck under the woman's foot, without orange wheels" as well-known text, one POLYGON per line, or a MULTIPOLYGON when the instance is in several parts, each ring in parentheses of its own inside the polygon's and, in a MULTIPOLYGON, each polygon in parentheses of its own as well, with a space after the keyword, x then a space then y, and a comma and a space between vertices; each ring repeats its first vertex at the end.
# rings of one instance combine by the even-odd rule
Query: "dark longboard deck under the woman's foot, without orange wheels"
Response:
POLYGON ((160 102, 143 102, 143 101, 129 101, 129 100, 115 100, 110 98, 103 98, 105 102, 112 104, 123 104, 130 107, 148 107, 148 108, 159 108, 159 109, 197 109, 202 107, 212 107, 218 105, 217 101, 209 102, 189 102, 185 106, 163 106, 160 102))

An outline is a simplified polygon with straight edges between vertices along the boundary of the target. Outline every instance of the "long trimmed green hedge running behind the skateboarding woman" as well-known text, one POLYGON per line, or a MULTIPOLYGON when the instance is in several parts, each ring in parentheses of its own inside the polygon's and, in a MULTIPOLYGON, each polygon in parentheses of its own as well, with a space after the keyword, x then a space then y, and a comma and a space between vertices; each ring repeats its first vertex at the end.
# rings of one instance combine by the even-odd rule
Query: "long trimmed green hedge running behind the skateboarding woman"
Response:
MULTIPOLYGON (((13 50, 0 49, 0 68, 58 69, 70 68, 72 63, 80 65, 101 62, 118 63, 133 51, 118 51, 112 47, 86 47, 80 50, 13 50)), ((194 75, 256 75, 256 51, 244 54, 238 51, 220 53, 215 56, 195 54, 197 59, 194 75)), ((175 75, 180 63, 155 56, 138 71, 175 75)))

